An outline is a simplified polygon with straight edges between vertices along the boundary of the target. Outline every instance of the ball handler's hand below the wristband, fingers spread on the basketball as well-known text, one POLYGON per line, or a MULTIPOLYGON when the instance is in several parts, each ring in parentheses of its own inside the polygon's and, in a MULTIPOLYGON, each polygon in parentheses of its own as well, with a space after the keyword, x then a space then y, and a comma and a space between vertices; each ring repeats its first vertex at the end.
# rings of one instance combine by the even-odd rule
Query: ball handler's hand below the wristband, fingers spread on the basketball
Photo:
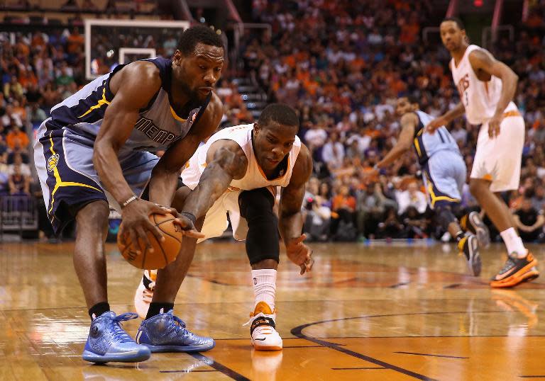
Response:
MULTIPOLYGON (((150 215, 153 213, 166 215, 168 212, 169 209, 165 207, 137 198, 121 210, 121 219, 123 220, 121 234, 128 234, 131 242, 138 242, 138 239, 141 239, 148 251, 153 253, 147 232, 152 232, 160 242, 165 241, 165 238, 160 229, 150 222, 150 215)), ((141 254, 140 245, 135 244, 135 246, 136 252, 141 254)))

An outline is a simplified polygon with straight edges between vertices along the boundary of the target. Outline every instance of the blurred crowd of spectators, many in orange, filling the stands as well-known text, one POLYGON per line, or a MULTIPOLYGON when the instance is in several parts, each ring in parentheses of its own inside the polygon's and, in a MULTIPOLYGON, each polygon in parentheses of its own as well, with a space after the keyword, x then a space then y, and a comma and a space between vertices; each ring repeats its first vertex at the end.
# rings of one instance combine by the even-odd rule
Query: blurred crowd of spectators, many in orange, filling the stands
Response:
MULTIPOLYGON (((434 116, 458 102, 448 52, 436 41, 422 40, 422 28, 431 19, 427 3, 408 3, 253 1, 255 21, 270 23, 272 33, 245 35, 243 74, 268 93, 269 101, 288 103, 300 115, 299 136, 314 157, 304 205, 305 229, 312 239, 444 233, 432 223, 413 154, 373 181, 363 181, 363 174, 395 144, 398 97, 416 95, 422 110, 434 116)), ((522 237, 530 241, 543 239, 545 220, 545 50, 543 34, 533 32, 544 26, 545 6, 535 5, 527 23, 517 28, 517 43, 500 39, 491 47, 519 75, 515 101, 524 113, 527 139, 520 188, 505 198, 522 237)), ((174 48, 170 40, 175 38, 152 43, 168 55, 174 48)), ((100 49, 107 51, 109 41, 103 42, 100 49)), ((30 160, 33 131, 52 106, 86 83, 84 39, 77 28, 51 29, 47 34, 16 33, 14 44, 0 34, 0 44, 0 192, 41 200, 30 160)), ((254 121, 229 76, 220 81, 217 93, 224 101, 222 126, 254 121)), ((459 118, 449 129, 470 173, 478 126, 459 118)), ((462 206, 478 210, 468 186, 462 206)))

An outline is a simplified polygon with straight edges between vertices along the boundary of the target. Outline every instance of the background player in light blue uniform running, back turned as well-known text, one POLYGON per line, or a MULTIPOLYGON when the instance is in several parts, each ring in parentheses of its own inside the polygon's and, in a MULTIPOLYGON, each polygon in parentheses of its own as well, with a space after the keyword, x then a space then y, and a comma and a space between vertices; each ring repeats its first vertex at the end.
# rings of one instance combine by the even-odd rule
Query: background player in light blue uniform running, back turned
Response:
MULTIPOLYGON (((373 167, 373 171, 365 176, 377 176, 380 169, 389 166, 414 147, 422 167, 422 180, 429 206, 434 210, 443 229, 456 238, 458 249, 466 257, 471 275, 478 276, 481 268, 478 241, 485 245, 489 237, 485 234, 478 240, 475 234, 466 235, 455 216, 460 209, 462 187, 466 182, 466 164, 458 144, 444 126, 439 127, 434 134, 426 131, 425 126, 432 117, 419 110, 418 101, 413 96, 399 98, 395 111, 401 118, 401 131, 397 142, 373 167)), ((478 213, 472 212, 470 215, 470 221, 482 224, 478 213)))

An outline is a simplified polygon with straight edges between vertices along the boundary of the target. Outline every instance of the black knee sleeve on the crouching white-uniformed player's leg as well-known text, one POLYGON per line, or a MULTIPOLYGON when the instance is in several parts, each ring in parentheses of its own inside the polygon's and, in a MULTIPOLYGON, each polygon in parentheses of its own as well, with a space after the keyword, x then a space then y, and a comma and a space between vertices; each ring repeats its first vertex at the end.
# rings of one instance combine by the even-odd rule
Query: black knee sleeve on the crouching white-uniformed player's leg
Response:
POLYGON ((280 260, 278 220, 272 212, 274 203, 272 194, 265 188, 244 191, 239 197, 241 216, 248 222, 246 254, 251 265, 280 260))

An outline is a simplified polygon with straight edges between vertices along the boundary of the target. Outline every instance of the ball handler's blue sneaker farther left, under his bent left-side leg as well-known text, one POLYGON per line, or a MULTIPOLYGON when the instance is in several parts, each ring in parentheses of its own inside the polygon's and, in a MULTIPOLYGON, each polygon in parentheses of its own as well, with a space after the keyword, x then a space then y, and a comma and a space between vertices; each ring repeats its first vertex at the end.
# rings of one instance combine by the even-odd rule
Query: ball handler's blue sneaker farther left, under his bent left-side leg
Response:
POLYGON ((150 349, 138 345, 121 328, 121 322, 137 317, 138 315, 133 313, 116 316, 115 312, 108 311, 94 319, 82 358, 91 363, 108 363, 109 361, 137 363, 148 360, 151 356, 150 349))

